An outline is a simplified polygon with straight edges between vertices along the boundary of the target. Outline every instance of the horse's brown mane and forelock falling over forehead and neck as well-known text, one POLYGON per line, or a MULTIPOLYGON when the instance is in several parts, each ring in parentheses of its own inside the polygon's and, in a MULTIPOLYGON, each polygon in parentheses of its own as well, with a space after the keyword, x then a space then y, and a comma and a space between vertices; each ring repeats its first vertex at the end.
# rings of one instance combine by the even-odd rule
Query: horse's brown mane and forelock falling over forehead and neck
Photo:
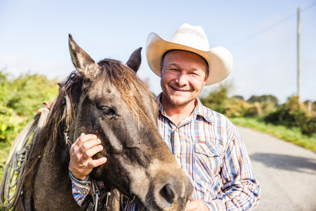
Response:
MULTIPOLYGON (((77 108, 81 96, 88 94, 89 90, 97 84, 104 84, 106 80, 110 81, 111 84, 118 89, 118 92, 122 95, 122 99, 124 99, 138 122, 146 123, 146 121, 149 120, 145 112, 144 102, 145 95, 151 94, 147 91, 145 84, 136 76, 136 73, 121 62, 113 59, 101 60, 98 65, 101 71, 96 74, 94 79, 90 79, 79 74, 77 71, 73 71, 65 81, 60 84, 59 93, 54 100, 47 124, 39 136, 39 139, 36 140, 34 146, 32 146, 34 150, 28 159, 24 177, 24 189, 31 192, 31 194, 33 194, 35 176, 45 148, 49 146, 50 149, 53 149, 50 155, 53 157, 57 153, 55 150, 56 146, 62 146, 65 141, 63 134, 63 99, 65 95, 69 97, 71 103, 70 124, 77 112, 75 108, 77 108)), ((74 139, 76 138, 77 137, 74 137, 74 139)), ((66 157, 69 159, 69 155, 66 155, 66 157)))

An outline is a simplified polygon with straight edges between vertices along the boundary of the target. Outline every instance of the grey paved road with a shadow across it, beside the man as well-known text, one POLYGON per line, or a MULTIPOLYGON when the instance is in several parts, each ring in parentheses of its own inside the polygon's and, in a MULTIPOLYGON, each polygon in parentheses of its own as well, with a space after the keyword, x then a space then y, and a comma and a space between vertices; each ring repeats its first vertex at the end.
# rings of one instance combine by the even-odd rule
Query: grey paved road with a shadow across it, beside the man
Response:
POLYGON ((256 211, 316 211, 316 154, 237 127, 262 194, 256 211))

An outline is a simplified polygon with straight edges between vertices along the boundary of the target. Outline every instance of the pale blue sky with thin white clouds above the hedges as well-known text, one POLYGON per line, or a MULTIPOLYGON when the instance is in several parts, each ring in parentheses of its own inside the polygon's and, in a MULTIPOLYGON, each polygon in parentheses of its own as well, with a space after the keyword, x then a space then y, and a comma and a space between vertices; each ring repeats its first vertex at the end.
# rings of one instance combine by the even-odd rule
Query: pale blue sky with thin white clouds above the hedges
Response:
MULTIPOLYGON (((297 92, 297 8, 301 10, 301 98, 316 101, 316 0, 0 0, 0 70, 64 79, 74 70, 68 33, 96 61, 126 62, 149 33, 170 40, 183 23, 203 27, 210 48, 234 57, 230 95, 297 92), (308 9, 307 9, 308 8, 308 9)), ((138 72, 158 94, 145 49, 138 72)), ((213 86, 204 87, 204 93, 213 86)))

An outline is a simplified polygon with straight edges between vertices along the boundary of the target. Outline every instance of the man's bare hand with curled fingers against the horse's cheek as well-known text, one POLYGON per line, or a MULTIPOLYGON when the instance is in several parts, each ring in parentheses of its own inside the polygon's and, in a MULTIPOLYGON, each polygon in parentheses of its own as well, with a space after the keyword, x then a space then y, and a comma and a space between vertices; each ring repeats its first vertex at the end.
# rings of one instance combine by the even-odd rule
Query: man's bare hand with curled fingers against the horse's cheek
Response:
POLYGON ((101 140, 96 135, 81 133, 71 146, 69 170, 77 179, 85 180, 94 167, 107 162, 105 157, 92 160, 93 155, 103 150, 100 143, 101 140))

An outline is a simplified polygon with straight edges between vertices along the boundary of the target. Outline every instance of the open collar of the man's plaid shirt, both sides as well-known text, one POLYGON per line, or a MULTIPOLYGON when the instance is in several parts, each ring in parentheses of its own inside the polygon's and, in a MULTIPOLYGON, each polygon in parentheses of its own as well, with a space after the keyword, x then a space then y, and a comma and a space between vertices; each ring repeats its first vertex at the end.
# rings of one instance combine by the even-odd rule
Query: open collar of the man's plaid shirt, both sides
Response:
MULTIPOLYGON (((162 92, 156 97, 156 101, 158 103, 158 107, 159 107, 159 112, 167 117, 164 109, 163 109, 163 106, 160 102, 161 100, 161 96, 162 96, 162 92)), ((197 98, 195 100, 195 104, 196 104, 196 107, 194 108, 194 111, 192 112, 191 115, 193 115, 193 119, 196 119, 197 118, 197 115, 199 116, 202 116, 207 122, 213 122, 214 123, 214 118, 213 118, 213 115, 209 115, 208 112, 206 111, 206 107, 204 107, 201 103, 201 101, 197 98)))

